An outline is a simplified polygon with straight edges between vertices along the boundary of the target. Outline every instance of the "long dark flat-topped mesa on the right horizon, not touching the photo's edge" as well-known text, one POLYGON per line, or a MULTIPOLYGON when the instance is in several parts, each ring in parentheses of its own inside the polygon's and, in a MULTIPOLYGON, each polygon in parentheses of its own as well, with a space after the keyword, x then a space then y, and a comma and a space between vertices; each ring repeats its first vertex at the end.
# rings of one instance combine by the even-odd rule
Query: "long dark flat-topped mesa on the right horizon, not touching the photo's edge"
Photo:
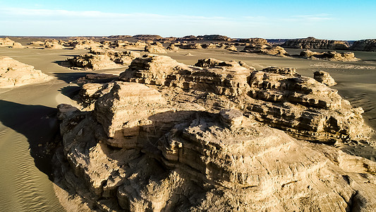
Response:
POLYGON ((340 40, 320 40, 315 37, 291 39, 284 42, 281 47, 293 49, 348 49, 348 42, 340 40))

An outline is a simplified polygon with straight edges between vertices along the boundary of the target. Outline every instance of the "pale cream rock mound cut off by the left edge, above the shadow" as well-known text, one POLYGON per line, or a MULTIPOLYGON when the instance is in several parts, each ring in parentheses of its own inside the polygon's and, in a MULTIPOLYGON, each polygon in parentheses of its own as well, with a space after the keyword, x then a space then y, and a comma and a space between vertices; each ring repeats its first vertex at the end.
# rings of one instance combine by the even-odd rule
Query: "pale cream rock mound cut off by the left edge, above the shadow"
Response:
POLYGON ((13 88, 51 79, 34 66, 23 64, 11 57, 0 57, 0 88, 13 88))

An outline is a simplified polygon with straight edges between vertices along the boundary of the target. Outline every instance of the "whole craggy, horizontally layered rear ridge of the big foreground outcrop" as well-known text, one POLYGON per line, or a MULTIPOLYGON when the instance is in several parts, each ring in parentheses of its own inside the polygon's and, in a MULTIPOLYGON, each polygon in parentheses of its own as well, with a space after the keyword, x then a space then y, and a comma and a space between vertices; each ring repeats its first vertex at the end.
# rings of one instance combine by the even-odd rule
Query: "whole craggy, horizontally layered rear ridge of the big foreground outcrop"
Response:
POLYGON ((332 142, 363 136, 361 108, 351 107, 337 90, 300 76, 295 69, 255 71, 242 63, 215 59, 186 66, 169 57, 149 55, 133 60, 120 79, 232 97, 222 103, 241 102, 238 107, 249 116, 297 138, 332 142))

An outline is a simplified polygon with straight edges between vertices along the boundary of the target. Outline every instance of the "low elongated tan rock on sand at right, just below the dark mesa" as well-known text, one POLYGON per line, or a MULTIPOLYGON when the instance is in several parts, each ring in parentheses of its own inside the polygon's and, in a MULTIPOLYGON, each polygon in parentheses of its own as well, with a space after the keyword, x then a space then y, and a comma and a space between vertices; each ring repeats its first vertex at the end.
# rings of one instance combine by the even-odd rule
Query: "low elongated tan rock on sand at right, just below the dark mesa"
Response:
POLYGON ((308 49, 301 52, 300 57, 309 59, 326 59, 330 61, 358 61, 353 52, 312 52, 308 49))

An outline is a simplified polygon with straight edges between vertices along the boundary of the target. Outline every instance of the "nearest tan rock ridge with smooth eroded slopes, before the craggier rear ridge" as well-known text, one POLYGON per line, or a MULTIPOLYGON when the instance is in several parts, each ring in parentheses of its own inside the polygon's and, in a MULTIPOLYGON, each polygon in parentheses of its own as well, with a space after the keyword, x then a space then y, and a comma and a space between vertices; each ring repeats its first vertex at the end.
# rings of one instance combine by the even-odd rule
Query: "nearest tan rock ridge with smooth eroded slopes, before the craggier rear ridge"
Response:
POLYGON ((375 162, 298 141, 241 110, 209 112, 210 98, 194 89, 179 93, 201 101, 170 98, 164 95, 169 86, 150 86, 115 82, 92 112, 59 105, 62 146, 54 160, 55 182, 71 198, 79 196, 87 210, 375 208, 375 162))

